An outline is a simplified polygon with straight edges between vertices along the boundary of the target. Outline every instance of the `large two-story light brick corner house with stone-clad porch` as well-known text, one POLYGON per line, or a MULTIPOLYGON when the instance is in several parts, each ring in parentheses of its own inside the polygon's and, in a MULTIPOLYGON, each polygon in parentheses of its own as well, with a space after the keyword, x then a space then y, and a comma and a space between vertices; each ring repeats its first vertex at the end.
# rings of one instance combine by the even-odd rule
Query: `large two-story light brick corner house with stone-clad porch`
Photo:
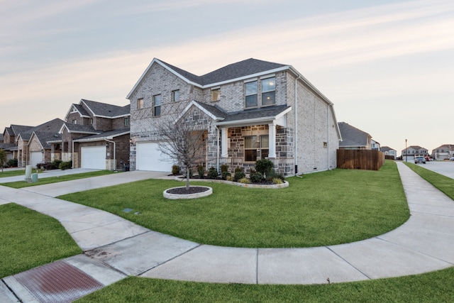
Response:
POLYGON ((249 172, 268 158, 284 175, 336 167, 341 133, 333 103, 291 65, 248 59, 196 76, 158 59, 131 101, 131 169, 170 172, 157 123, 185 119, 206 130, 206 169, 249 172))

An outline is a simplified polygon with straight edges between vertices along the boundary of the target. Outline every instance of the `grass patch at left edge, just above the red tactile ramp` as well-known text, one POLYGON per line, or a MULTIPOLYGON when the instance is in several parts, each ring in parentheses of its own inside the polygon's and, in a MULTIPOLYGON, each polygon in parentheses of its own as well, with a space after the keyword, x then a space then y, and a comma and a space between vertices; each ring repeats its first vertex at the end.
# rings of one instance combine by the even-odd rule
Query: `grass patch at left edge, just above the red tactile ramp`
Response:
POLYGON ((82 253, 56 219, 18 204, 0 205, 0 277, 82 253))

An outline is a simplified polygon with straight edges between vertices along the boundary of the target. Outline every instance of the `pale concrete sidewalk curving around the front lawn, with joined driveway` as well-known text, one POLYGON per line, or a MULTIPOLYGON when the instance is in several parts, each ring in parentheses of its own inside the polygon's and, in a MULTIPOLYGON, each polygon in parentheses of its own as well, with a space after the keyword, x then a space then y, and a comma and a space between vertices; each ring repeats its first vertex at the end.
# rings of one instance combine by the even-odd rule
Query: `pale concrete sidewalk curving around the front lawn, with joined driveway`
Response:
MULTIPOLYGON (((198 282, 323 284, 413 275, 453 266, 453 200, 402 162, 397 165, 411 211, 409 221, 365 241, 317 248, 201 245, 54 198, 163 177, 153 172, 126 172, 25 189, 0 187, 0 204, 16 202, 58 219, 85 251, 65 262, 103 285, 128 275, 198 282)), ((23 302, 35 302, 14 276, 3 280, 23 302)))

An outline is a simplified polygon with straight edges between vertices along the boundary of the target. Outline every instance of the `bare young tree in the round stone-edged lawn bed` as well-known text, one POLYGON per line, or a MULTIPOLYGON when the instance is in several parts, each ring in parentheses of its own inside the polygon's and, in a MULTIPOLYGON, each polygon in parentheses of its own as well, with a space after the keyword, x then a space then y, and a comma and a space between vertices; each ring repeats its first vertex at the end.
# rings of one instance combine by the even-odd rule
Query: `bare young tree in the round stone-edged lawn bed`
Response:
MULTIPOLYGON (((166 117, 167 118, 167 117, 166 117)), ((204 161, 204 134, 206 128, 191 121, 170 118, 161 119, 156 129, 162 141, 159 142, 161 153, 181 164, 186 170, 186 190, 189 190, 189 171, 197 163, 204 161)))

